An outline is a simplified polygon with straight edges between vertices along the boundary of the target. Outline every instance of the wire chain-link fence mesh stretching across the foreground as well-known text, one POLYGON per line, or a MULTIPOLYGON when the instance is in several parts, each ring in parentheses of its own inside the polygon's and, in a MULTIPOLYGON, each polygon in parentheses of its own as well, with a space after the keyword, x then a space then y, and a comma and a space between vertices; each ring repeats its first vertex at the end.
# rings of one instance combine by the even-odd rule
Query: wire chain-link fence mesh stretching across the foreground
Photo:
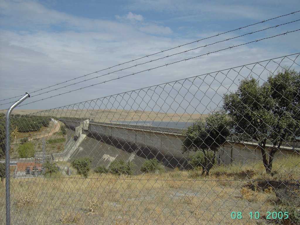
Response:
POLYGON ((14 110, 11 223, 299 224, 299 55, 14 110))

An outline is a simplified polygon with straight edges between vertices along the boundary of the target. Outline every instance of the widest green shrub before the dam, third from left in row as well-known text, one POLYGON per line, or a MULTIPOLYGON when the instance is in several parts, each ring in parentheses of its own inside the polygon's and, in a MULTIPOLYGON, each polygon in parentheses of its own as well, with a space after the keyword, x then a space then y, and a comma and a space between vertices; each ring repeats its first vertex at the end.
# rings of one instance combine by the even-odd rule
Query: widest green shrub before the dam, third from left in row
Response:
POLYGON ((133 162, 128 161, 125 162, 124 159, 114 160, 110 166, 110 172, 115 176, 120 176, 121 174, 125 174, 127 176, 132 176, 134 173, 134 167, 136 165, 133 162))

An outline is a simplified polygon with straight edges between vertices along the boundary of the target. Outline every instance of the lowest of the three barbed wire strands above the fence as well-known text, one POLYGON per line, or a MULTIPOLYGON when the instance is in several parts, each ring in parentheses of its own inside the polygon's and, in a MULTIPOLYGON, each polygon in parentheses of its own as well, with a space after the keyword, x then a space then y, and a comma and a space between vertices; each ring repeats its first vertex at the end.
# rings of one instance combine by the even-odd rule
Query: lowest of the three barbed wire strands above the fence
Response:
MULTIPOLYGON (((106 83, 106 82, 110 82, 110 81, 113 81, 113 80, 122 79, 124 77, 132 76, 132 75, 143 73, 143 72, 146 72, 146 71, 151 71, 151 70, 158 69, 158 68, 161 68, 161 67, 164 67, 164 66, 176 64, 176 63, 179 63, 179 62, 182 62, 182 61, 187 61, 187 60, 190 60, 190 59, 198 58, 198 57, 201 57, 201 56, 204 56, 204 55, 209 55, 209 54, 220 52, 220 51, 224 51, 224 50, 227 50, 227 49, 236 48, 236 47, 247 45, 247 44, 251 44, 251 43, 254 43, 254 42, 258 42, 258 41, 262 41, 262 40, 266 40, 266 39, 278 37, 278 36, 281 36, 281 35, 287 35, 288 33, 296 32, 296 31, 299 31, 299 30, 300 29, 293 30, 293 31, 287 31, 285 33, 274 35, 274 36, 271 36, 271 37, 261 38, 261 39, 255 40, 255 41, 250 41, 250 42, 247 42, 247 43, 244 43, 244 44, 239 44, 239 45, 236 45, 236 46, 229 46, 227 48, 219 49, 219 50, 213 51, 213 52, 207 52, 205 54, 197 55, 197 56, 190 57, 190 58, 184 58, 184 59, 179 60, 179 61, 174 61, 172 63, 167 63, 167 64, 160 65, 160 66, 157 66, 157 67, 153 67, 153 68, 141 70, 141 71, 136 72, 136 73, 127 74, 127 75, 120 76, 120 77, 117 77, 117 78, 113 78, 113 79, 110 79, 110 80, 107 80, 107 81, 103 81, 103 82, 99 82, 99 83, 96 83, 96 84, 91 84, 91 85, 88 85, 88 86, 85 86, 85 87, 77 88, 77 89, 74 89, 74 90, 66 91, 66 92, 63 92, 61 94, 57 94, 57 95, 53 95, 53 96, 50 96, 50 97, 47 97, 47 98, 39 99, 39 100, 32 101, 32 102, 29 102, 29 103, 26 103, 26 104, 22 104, 22 105, 19 105, 19 106, 24 106, 24 105, 32 104, 32 103, 35 103, 35 102, 38 102, 38 101, 43 101, 43 100, 46 100, 46 99, 49 99, 49 98, 54 98, 54 97, 57 97, 57 96, 60 96, 60 95, 64 95, 64 94, 67 94, 67 93, 71 93, 71 92, 74 92, 74 91, 79 91, 79 90, 82 90, 84 88, 89 88, 89 87, 92 87, 92 86, 95 86, 95 85, 99 85, 99 84, 103 84, 103 83, 106 83)), ((17 106, 17 107, 19 107, 19 106, 17 106)))

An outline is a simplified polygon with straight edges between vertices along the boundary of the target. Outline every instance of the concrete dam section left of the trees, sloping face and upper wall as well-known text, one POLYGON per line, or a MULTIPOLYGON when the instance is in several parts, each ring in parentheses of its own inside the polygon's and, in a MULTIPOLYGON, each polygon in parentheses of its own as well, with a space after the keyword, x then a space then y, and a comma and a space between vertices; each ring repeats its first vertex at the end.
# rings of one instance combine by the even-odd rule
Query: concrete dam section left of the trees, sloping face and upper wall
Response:
POLYGON ((89 155, 94 166, 109 165, 115 159, 134 161, 140 168, 145 159, 157 158, 166 169, 185 168, 188 153, 182 154, 182 129, 143 125, 101 123, 60 119, 68 131, 64 151, 57 160, 70 161, 89 155))

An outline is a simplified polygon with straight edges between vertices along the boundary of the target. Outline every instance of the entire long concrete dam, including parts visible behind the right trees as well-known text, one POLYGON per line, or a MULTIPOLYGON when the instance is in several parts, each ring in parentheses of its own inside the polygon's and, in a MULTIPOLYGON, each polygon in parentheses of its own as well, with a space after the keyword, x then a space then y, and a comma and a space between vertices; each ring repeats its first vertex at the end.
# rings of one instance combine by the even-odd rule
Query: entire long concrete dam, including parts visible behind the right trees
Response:
MULTIPOLYGON (((94 166, 109 165, 115 159, 124 158, 134 161, 137 170, 145 159, 157 158, 171 170, 175 167, 186 168, 189 153, 182 154, 181 144, 184 138, 182 129, 131 125, 121 123, 93 122, 60 119, 68 130, 64 151, 57 154, 57 160, 70 161, 80 156, 91 156, 94 166)), ((271 145, 270 145, 271 146, 271 145)), ((228 137, 220 155, 224 164, 241 163, 261 159, 257 143, 236 140, 228 137)), ((277 156, 299 154, 300 142, 283 143, 277 156)), ((217 153, 218 154, 218 153, 217 153)))

